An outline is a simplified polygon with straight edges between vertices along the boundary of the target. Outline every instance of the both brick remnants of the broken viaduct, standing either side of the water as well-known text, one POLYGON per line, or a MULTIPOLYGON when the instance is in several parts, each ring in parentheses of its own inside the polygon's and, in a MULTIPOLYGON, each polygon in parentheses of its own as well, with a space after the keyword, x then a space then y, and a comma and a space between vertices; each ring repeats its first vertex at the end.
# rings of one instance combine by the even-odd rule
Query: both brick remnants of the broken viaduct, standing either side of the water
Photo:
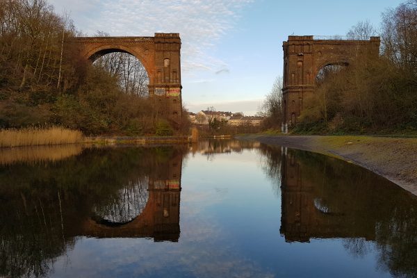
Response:
MULTIPOLYGON (((181 123, 181 38, 179 33, 154 37, 74 38, 81 55, 92 62, 112 52, 129 53, 144 65, 149 76, 149 96, 157 113, 181 123)), ((300 116, 304 99, 314 94, 316 76, 327 65, 350 65, 363 56, 379 55, 379 37, 370 40, 320 40, 313 35, 290 35, 284 42, 283 129, 300 116)))

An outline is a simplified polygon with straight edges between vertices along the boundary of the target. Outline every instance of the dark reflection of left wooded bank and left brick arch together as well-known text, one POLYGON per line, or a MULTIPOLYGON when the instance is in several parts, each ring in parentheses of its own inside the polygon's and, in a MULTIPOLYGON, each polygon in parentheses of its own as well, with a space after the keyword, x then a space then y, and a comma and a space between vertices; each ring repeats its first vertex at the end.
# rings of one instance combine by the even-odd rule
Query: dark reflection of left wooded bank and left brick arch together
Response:
POLYGON ((0 166, 0 276, 47 275, 76 236, 178 241, 181 147, 0 166))

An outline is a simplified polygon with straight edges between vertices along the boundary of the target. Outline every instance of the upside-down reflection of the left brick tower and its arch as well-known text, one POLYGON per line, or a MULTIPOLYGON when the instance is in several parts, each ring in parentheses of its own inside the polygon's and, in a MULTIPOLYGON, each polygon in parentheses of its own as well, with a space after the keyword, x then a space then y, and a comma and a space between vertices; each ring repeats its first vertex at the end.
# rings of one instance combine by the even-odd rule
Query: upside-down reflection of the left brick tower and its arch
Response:
POLYGON ((181 155, 155 165, 156 172, 149 175, 147 203, 133 220, 114 223, 95 215, 84 220, 77 235, 178 241, 181 167, 181 155))

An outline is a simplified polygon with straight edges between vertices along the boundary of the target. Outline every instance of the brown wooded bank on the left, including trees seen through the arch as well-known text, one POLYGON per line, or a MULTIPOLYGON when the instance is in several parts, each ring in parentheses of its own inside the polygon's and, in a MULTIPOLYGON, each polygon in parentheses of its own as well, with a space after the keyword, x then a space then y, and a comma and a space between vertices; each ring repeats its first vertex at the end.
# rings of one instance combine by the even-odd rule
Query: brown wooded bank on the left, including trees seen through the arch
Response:
POLYGON ((165 119, 163 101, 148 97, 136 58, 110 54, 91 65, 71 43, 76 35, 46 0, 0 0, 0 129, 53 124, 87 136, 187 129, 165 119))

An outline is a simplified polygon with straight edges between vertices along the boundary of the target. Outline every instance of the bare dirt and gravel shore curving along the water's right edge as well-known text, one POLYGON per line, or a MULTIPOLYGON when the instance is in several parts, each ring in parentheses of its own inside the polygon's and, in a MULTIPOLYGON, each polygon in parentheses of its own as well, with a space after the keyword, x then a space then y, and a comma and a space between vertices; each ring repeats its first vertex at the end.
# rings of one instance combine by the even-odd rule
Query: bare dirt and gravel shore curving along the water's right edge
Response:
POLYGON ((336 156, 376 172, 417 195, 417 138, 263 135, 239 138, 336 156))

